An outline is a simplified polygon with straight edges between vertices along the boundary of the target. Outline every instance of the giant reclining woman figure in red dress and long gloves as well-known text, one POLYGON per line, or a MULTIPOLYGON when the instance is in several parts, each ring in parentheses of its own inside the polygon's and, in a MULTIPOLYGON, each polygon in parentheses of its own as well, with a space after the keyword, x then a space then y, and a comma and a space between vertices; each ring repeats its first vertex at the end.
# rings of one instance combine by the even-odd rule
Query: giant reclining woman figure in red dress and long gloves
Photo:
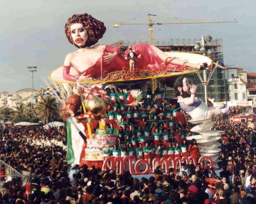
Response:
MULTIPOLYGON (((67 54, 65 58, 63 66, 63 78, 65 80, 76 82, 76 77, 70 73, 71 66, 75 68, 80 81, 83 82, 90 80, 90 77, 101 76, 101 73, 106 71, 128 70, 130 68, 122 56, 122 54, 128 55, 129 50, 121 54, 118 47, 95 45, 105 31, 104 23, 86 13, 72 15, 67 20, 65 25, 67 39, 78 50, 67 54)), ((131 49, 137 56, 142 56, 136 62, 139 69, 158 71, 166 67, 173 71, 184 71, 189 68, 204 69, 207 66, 206 63, 193 64, 179 58, 169 57, 159 48, 146 43, 133 45, 131 49)))

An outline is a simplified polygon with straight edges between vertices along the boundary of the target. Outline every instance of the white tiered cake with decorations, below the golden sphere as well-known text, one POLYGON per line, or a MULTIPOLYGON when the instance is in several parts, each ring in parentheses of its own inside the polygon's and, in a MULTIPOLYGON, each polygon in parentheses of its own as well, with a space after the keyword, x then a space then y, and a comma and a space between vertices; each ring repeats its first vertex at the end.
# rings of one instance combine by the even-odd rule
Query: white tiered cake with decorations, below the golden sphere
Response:
POLYGON ((113 147, 116 144, 116 136, 108 130, 97 129, 92 134, 92 138, 87 138, 87 148, 85 148, 86 161, 103 161, 103 149, 107 146, 113 147))

